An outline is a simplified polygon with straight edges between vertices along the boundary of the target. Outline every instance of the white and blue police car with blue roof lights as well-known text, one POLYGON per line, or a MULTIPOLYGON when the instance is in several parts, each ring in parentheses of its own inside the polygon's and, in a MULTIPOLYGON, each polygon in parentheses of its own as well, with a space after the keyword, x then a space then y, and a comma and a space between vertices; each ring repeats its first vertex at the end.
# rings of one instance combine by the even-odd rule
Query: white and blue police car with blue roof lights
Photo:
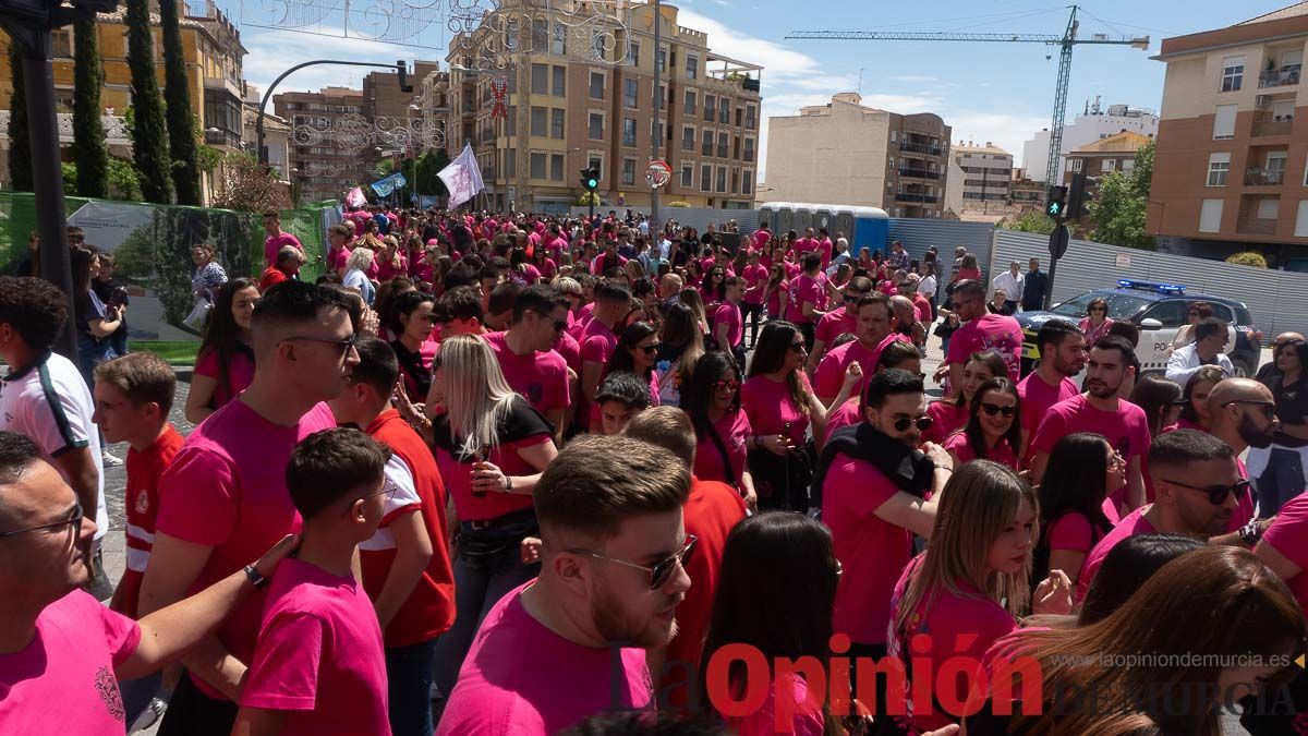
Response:
POLYGON ((1181 326, 1186 325, 1190 305, 1205 301, 1213 305, 1213 316, 1230 325, 1231 338, 1227 342, 1227 356, 1235 364, 1240 376, 1253 376, 1258 368, 1262 347, 1262 333, 1253 326, 1253 316, 1241 301, 1224 296, 1206 293, 1186 293, 1184 284, 1163 284, 1122 279, 1117 288, 1095 289, 1069 299, 1049 312, 1019 312, 1015 314, 1022 325, 1022 373, 1035 369, 1040 360, 1036 347, 1036 333, 1040 326, 1056 317, 1073 323, 1086 317, 1090 300, 1100 297, 1108 303, 1108 316, 1114 321, 1126 321, 1141 331, 1141 342, 1135 356, 1141 361, 1142 373, 1162 373, 1167 368, 1168 348, 1181 326))

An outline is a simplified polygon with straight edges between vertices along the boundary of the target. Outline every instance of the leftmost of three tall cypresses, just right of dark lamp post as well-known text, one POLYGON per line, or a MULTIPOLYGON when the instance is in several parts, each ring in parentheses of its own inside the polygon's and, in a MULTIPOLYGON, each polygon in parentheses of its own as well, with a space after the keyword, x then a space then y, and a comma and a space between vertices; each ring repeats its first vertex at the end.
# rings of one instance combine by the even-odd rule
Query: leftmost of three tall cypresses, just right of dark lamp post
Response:
MULTIPOLYGON (((77 46, 73 51, 73 160, 77 161, 77 194, 109 196, 109 145, 99 119, 99 90, 105 81, 99 60, 95 16, 73 24, 77 46)), ((64 179, 65 185, 71 183, 64 179)))

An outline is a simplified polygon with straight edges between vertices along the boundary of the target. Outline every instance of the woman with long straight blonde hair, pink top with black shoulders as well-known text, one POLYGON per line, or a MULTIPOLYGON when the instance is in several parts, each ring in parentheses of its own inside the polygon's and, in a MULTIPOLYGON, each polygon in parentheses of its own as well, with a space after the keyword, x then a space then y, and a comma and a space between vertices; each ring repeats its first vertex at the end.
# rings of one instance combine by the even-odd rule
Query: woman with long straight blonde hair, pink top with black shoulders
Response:
POLYGON ((433 401, 445 407, 432 422, 432 444, 458 520, 458 613, 436 650, 436 684, 449 695, 481 617, 539 571, 523 563, 519 545, 540 534, 532 492, 559 451, 549 422, 513 393, 479 337, 441 343, 432 361, 433 401))

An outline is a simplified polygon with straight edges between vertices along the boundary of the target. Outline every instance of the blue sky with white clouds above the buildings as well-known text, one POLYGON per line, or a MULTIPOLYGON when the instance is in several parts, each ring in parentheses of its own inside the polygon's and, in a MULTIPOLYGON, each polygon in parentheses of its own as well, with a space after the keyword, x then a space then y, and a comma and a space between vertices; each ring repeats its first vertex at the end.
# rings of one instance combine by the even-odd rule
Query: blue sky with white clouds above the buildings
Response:
MULTIPOLYGON (((327 4, 330 0, 317 0, 327 4)), ((366 0, 353 0, 362 7, 366 0)), ((386 0, 381 0, 386 1, 386 0)), ((468 0, 408 0, 415 5, 449 7, 468 0)), ((484 1, 484 0, 483 0, 484 1)), ((266 88, 285 68, 310 59, 351 60, 443 59, 447 31, 436 22, 415 41, 437 48, 415 48, 361 39, 343 39, 252 24, 271 24, 281 0, 220 0, 241 25, 246 79, 266 88)), ((293 3, 292 3, 293 4, 293 3)), ((786 41, 791 30, 943 30, 978 33, 1061 34, 1069 9, 1050 0, 937 0, 926 4, 875 0, 681 0, 679 24, 705 30, 709 46, 729 56, 763 64, 764 126, 770 115, 795 114, 803 105, 823 103, 837 92, 859 89, 863 103, 895 113, 934 111, 954 127, 955 143, 993 141, 1022 164, 1022 143, 1048 127, 1053 110, 1057 47, 1037 43, 937 43, 869 41, 786 41), (1048 58, 1046 58, 1048 56, 1048 58)), ((1148 34, 1148 52, 1129 46, 1079 46, 1073 59, 1067 120, 1096 96, 1108 103, 1158 109, 1163 64, 1150 60, 1159 41, 1228 26, 1288 5, 1290 0, 1087 0, 1082 38, 1093 33, 1148 34)), ((360 86, 366 69, 318 67, 297 72, 279 86, 318 89, 328 84, 360 86)), ((760 145, 765 168, 766 131, 760 145)), ((760 179, 766 174, 760 170, 760 179)))

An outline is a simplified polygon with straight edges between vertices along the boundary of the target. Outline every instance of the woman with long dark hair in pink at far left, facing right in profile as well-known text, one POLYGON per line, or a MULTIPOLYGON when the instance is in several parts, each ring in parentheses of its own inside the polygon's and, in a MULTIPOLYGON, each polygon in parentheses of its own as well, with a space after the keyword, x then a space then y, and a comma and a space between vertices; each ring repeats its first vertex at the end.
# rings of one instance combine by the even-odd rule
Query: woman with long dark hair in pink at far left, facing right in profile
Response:
POLYGON ((186 396, 186 419, 192 424, 221 409, 254 380, 250 317, 255 304, 259 304, 259 284, 254 279, 232 279, 218 289, 186 396))

